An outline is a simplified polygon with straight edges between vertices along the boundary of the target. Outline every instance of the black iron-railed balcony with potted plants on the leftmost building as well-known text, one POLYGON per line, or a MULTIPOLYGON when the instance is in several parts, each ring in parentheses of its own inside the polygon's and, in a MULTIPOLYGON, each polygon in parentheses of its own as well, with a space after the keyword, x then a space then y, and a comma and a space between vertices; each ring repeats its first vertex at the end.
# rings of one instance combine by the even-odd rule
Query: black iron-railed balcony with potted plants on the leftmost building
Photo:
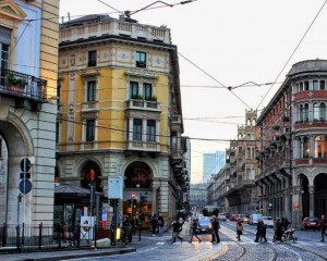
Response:
POLYGON ((47 80, 1 69, 0 94, 44 103, 47 102, 47 80))

